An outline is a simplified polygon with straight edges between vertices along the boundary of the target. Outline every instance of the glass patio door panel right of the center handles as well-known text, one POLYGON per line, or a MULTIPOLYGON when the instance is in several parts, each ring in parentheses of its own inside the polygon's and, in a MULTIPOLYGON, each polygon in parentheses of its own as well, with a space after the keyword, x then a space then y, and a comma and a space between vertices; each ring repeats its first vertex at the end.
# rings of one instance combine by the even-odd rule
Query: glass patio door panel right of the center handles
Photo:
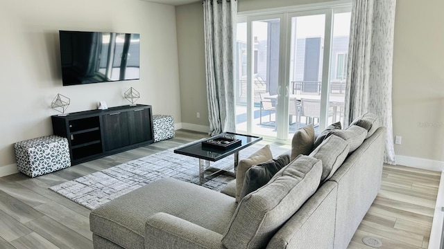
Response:
POLYGON ((326 20, 329 12, 296 12, 289 15, 289 107, 296 110, 296 122, 287 137, 312 123, 316 128, 324 121, 321 113, 326 20))

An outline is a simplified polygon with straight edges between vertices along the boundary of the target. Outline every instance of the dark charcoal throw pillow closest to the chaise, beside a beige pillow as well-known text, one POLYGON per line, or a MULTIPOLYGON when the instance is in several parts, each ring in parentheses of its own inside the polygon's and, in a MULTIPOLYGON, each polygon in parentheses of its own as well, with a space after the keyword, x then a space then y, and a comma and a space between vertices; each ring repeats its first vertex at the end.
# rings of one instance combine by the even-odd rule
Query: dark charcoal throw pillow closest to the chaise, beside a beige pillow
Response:
POLYGON ((290 156, 288 154, 282 154, 277 158, 266 161, 265 163, 259 163, 247 170, 244 178, 244 186, 242 187, 241 195, 239 199, 244 199, 247 194, 256 191, 260 187, 266 185, 268 181, 276 174, 280 169, 290 163, 290 156))

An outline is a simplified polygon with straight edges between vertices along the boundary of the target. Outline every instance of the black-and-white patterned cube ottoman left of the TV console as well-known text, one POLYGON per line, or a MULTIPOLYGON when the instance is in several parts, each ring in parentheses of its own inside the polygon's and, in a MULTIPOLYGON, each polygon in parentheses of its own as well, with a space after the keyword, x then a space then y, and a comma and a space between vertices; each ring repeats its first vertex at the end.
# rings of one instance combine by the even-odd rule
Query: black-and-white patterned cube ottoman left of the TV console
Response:
POLYGON ((33 138, 16 142, 14 148, 17 168, 26 176, 41 176, 71 166, 67 138, 33 138))

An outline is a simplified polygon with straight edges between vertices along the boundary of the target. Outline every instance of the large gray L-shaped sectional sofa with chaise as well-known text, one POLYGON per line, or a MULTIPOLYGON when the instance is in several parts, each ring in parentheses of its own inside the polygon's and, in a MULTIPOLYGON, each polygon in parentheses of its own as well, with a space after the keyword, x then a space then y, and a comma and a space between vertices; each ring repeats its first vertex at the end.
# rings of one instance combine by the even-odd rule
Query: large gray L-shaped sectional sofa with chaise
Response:
POLYGON ((385 128, 361 121, 239 203, 235 183, 223 194, 172 178, 114 199, 89 216, 94 248, 347 248, 379 190, 385 148, 385 128))

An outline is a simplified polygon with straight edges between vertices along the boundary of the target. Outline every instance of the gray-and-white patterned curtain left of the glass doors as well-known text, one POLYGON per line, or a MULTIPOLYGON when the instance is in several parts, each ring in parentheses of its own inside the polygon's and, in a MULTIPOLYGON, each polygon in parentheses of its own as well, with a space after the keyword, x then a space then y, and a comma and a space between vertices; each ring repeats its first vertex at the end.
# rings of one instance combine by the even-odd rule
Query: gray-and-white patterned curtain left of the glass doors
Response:
POLYGON ((205 67, 210 134, 234 132, 236 0, 204 0, 205 67))

